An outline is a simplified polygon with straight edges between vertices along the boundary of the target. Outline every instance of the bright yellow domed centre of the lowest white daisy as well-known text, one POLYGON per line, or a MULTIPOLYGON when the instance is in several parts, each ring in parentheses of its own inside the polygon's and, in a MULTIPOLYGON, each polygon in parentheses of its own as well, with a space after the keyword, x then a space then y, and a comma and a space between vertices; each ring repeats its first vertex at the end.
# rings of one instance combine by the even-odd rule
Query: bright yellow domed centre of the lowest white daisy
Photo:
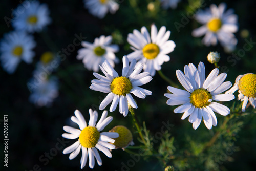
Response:
POLYGON ((99 140, 99 131, 94 126, 85 127, 79 136, 80 144, 86 148, 95 147, 99 140))

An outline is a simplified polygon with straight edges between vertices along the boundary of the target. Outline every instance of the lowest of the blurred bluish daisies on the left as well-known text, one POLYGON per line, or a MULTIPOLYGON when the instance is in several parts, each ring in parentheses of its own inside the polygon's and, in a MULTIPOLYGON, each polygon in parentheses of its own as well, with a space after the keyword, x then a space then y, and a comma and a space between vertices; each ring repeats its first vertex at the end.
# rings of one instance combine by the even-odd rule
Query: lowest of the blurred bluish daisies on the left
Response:
POLYGON ((31 103, 42 107, 51 106, 54 99, 58 97, 58 79, 56 77, 49 77, 41 79, 39 83, 35 84, 35 79, 29 82, 31 95, 29 100, 31 103))

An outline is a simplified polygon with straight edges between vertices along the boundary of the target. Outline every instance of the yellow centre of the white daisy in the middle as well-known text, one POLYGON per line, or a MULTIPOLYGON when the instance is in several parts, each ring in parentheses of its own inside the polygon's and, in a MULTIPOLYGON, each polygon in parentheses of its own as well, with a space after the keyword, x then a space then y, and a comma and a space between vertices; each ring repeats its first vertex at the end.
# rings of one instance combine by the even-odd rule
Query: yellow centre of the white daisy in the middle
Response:
POLYGON ((126 95, 132 88, 131 81, 126 77, 116 77, 110 85, 111 92, 117 95, 126 95))

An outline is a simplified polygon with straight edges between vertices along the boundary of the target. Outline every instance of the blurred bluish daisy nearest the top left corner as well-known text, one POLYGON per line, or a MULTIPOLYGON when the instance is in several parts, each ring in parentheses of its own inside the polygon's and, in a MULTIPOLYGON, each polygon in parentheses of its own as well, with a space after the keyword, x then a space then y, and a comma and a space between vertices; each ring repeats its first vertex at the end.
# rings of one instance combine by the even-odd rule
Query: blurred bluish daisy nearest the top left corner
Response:
POLYGON ((24 1, 15 11, 19 15, 13 18, 13 27, 16 30, 28 31, 30 33, 40 32, 46 25, 51 23, 47 4, 40 4, 39 1, 24 1), (23 4, 29 4, 23 13, 18 11, 24 8, 23 4))

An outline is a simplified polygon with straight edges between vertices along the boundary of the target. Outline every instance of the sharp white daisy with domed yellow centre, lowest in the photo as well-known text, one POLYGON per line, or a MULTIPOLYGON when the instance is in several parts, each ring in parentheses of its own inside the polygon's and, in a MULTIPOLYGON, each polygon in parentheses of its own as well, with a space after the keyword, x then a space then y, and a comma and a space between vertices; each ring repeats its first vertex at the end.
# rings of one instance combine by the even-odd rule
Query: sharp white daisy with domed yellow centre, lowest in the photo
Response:
POLYGON ((78 138, 78 141, 63 150, 63 154, 71 153, 69 155, 69 159, 72 160, 82 149, 82 157, 80 160, 81 169, 86 165, 88 156, 90 168, 93 168, 95 165, 94 157, 96 158, 98 165, 101 166, 102 161, 98 150, 111 158, 112 154, 109 149, 115 149, 115 145, 110 144, 109 142, 114 143, 115 140, 112 138, 117 138, 119 136, 118 133, 101 132, 105 126, 113 120, 112 116, 107 117, 107 111, 102 113, 97 124, 98 112, 89 109, 89 114, 90 120, 88 126, 86 120, 78 110, 75 111, 75 116, 72 116, 71 120, 78 124, 79 129, 75 129, 70 126, 63 126, 63 130, 68 133, 62 134, 62 137, 68 139, 78 138))

